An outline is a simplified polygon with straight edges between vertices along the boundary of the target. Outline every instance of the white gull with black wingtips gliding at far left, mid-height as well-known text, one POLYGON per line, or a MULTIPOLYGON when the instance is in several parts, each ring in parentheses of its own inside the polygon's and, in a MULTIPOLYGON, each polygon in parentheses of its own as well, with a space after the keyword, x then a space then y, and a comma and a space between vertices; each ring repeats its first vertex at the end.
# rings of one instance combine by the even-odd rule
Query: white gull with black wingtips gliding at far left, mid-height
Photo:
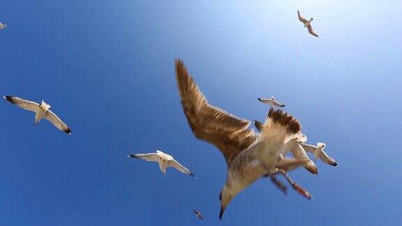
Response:
POLYGON ((47 119, 52 122, 54 126, 59 128, 59 130, 63 130, 65 133, 71 134, 71 130, 70 128, 68 128, 66 123, 61 121, 61 119, 59 119, 56 114, 49 110, 50 105, 47 105, 47 103, 45 103, 43 100, 42 103, 38 104, 33 101, 24 100, 16 96, 3 96, 3 98, 17 105, 18 107, 24 108, 24 110, 35 112, 36 114, 34 125, 36 125, 36 123, 38 123, 40 119, 47 119))

